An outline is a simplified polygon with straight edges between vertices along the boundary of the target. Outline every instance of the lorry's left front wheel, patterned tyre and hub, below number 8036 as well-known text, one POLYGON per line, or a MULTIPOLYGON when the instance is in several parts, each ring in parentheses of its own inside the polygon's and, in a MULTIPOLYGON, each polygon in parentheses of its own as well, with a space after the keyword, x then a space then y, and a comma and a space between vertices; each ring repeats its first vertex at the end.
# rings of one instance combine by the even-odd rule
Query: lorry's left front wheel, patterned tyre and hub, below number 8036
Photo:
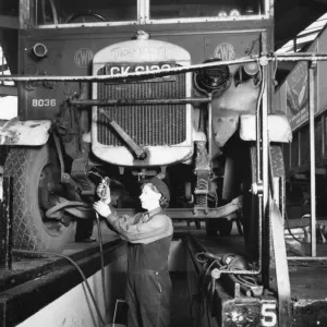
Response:
POLYGON ((13 245, 15 249, 61 252, 73 233, 73 223, 45 217, 41 203, 60 190, 60 166, 50 145, 12 148, 4 175, 13 177, 13 245))

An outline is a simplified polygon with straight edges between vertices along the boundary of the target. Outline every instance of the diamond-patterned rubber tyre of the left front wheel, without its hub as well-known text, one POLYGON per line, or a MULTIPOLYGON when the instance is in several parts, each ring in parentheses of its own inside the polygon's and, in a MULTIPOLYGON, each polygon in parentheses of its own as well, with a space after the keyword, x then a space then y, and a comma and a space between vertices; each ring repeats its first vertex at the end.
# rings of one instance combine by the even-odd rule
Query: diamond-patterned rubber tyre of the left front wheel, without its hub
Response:
POLYGON ((62 252, 72 238, 73 223, 61 233, 48 233, 38 207, 38 178, 56 150, 49 145, 37 148, 12 148, 3 174, 13 177, 13 247, 62 252))

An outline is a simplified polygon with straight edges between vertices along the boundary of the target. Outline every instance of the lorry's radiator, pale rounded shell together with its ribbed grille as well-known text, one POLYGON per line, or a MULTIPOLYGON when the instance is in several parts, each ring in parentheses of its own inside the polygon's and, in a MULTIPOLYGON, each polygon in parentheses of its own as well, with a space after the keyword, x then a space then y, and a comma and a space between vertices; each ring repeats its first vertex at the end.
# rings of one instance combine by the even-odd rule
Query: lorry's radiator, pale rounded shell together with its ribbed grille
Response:
MULTIPOLYGON (((191 64, 190 53, 175 45, 158 40, 131 40, 112 45, 94 57, 93 74, 105 74, 106 65, 173 62, 191 64)), ((137 83, 94 83, 93 98, 173 99, 192 94, 191 73, 174 78, 137 83)), ((142 146, 145 160, 136 160, 110 126, 107 118, 93 107, 92 149, 100 159, 119 166, 162 166, 187 160, 193 154, 191 105, 138 105, 105 107, 109 116, 142 146)))

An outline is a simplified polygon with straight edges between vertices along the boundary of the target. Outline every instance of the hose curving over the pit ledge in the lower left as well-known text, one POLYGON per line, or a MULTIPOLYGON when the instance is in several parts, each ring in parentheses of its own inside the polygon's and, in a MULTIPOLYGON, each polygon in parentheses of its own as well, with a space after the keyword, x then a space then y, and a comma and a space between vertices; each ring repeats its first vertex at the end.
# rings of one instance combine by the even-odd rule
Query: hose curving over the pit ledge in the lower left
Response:
POLYGON ((63 258, 65 258, 66 261, 69 261, 69 262, 77 269, 77 271, 78 271, 80 275, 82 276, 83 281, 85 282, 85 286, 86 286, 86 288, 87 288, 87 290, 88 290, 88 293, 89 293, 89 296, 90 296, 90 299, 92 299, 92 302, 93 302, 93 304, 94 304, 94 306, 95 306, 95 308, 96 308, 96 312, 97 312, 97 314, 98 314, 98 317, 99 317, 99 319, 100 319, 102 326, 104 326, 104 327, 106 326, 105 319, 104 319, 104 317, 102 317, 102 315, 101 315, 101 313, 100 313, 99 306, 98 306, 98 304, 97 304, 97 302, 96 302, 96 299, 95 299, 95 296, 94 296, 94 294, 93 294, 93 291, 92 291, 92 289, 90 289, 90 287, 89 287, 89 283, 88 283, 88 281, 87 281, 87 279, 86 279, 86 277, 85 277, 83 270, 81 269, 81 267, 80 267, 80 266, 78 266, 71 257, 69 257, 69 256, 66 256, 66 255, 64 255, 64 254, 61 254, 61 253, 44 252, 44 251, 34 251, 34 250, 13 250, 13 254, 23 254, 23 255, 25 255, 25 256, 27 256, 27 257, 28 257, 28 254, 36 254, 36 255, 41 256, 41 257, 59 256, 59 257, 63 257, 63 258), (44 255, 45 255, 45 256, 44 256, 44 255))

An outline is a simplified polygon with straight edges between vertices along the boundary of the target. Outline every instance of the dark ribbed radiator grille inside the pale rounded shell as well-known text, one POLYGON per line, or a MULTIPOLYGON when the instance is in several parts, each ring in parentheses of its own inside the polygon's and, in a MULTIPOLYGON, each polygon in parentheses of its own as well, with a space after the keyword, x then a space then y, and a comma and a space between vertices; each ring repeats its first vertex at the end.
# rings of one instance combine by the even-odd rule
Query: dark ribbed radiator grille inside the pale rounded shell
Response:
MULTIPOLYGON (((100 70, 98 75, 104 74, 100 70)), ((175 81, 140 82, 129 84, 98 83, 98 99, 171 99, 185 97, 185 74, 175 81)), ((109 116, 140 146, 173 145, 186 138, 185 105, 142 105, 104 108, 109 116)), ((98 142, 123 146, 120 136, 108 125, 107 118, 98 114, 98 142)))

